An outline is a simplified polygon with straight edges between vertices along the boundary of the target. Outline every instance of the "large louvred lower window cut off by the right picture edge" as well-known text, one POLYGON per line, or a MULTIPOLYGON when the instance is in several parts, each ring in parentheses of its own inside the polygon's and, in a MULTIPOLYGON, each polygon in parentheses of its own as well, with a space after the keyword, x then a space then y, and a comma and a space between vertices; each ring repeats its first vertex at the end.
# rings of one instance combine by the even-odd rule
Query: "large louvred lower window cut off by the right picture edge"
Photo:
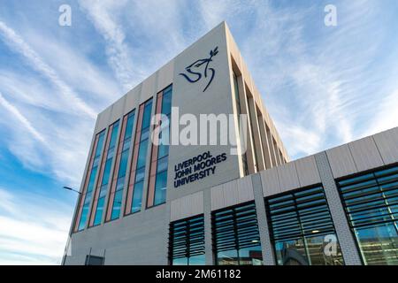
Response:
POLYGON ((364 264, 398 264, 398 166, 338 181, 364 264))

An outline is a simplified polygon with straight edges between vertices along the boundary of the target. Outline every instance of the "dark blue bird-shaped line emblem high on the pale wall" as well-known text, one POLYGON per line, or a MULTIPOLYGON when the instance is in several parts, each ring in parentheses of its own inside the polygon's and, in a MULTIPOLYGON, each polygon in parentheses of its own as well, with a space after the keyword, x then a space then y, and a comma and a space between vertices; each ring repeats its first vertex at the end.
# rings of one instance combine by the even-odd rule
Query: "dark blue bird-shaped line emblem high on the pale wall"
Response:
POLYGON ((188 67, 185 68, 185 71, 187 71, 188 74, 180 73, 180 75, 187 79, 190 83, 195 83, 196 81, 201 80, 203 77, 205 79, 208 79, 209 81, 206 85, 206 88, 203 89, 203 92, 205 92, 206 89, 209 88, 210 83, 211 81, 213 81, 214 75, 216 74, 216 71, 213 68, 209 67, 209 65, 210 62, 213 61, 212 58, 215 57, 217 54, 218 46, 214 50, 210 50, 210 57, 205 59, 199 59, 191 65, 188 65, 188 67))

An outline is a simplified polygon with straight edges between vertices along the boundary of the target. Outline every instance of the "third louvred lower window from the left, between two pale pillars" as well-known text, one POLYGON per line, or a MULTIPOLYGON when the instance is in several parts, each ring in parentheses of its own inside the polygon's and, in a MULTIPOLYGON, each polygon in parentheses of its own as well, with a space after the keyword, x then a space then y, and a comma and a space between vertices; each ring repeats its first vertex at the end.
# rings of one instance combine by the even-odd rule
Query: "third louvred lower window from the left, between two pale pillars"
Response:
POLYGON ((323 187, 267 198, 279 265, 341 265, 343 259, 323 187))

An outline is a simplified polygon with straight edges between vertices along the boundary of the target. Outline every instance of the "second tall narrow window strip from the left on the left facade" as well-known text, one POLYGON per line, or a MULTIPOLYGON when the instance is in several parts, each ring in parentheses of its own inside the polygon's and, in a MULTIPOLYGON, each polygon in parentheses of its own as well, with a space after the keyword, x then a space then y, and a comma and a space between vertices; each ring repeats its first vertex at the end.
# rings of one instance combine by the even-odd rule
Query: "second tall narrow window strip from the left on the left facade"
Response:
POLYGON ((116 157, 115 170, 111 183, 111 194, 109 196, 106 221, 120 217, 123 191, 126 183, 127 162, 130 154, 131 144, 133 143, 135 111, 131 111, 123 118, 118 155, 116 157))

